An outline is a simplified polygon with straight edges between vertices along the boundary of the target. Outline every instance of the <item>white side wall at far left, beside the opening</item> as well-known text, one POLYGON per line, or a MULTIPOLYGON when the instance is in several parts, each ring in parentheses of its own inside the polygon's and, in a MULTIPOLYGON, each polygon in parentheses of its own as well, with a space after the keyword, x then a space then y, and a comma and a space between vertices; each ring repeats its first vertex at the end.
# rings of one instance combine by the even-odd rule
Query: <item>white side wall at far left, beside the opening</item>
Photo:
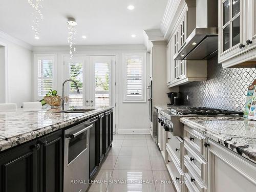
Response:
POLYGON ((5 46, 8 103, 32 101, 32 47, 0 31, 0 45, 5 46))

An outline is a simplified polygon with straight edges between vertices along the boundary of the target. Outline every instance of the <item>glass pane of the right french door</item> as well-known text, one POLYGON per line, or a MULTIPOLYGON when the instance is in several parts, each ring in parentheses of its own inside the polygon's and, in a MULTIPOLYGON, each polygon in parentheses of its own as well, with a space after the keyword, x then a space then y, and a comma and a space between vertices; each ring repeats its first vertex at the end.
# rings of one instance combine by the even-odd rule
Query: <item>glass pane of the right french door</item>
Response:
POLYGON ((110 105, 110 63, 95 63, 95 107, 110 105))

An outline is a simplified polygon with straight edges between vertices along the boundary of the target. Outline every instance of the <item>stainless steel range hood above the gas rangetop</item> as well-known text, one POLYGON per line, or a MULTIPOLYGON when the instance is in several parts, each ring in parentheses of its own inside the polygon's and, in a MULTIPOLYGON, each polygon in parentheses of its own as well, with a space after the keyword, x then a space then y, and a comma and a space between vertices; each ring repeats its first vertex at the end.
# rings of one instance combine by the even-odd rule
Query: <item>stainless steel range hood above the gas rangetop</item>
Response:
POLYGON ((196 6, 196 28, 174 60, 207 60, 218 54, 218 0, 185 1, 188 9, 196 6))

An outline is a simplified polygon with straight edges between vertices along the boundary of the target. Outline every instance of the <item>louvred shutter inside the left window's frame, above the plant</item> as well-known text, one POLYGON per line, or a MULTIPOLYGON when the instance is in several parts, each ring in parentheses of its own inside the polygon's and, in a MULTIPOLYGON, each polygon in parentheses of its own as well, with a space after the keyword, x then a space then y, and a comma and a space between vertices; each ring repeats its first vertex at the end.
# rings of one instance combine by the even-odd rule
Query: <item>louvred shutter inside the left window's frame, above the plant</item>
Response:
POLYGON ((38 59, 38 98, 53 89, 53 59, 38 59))

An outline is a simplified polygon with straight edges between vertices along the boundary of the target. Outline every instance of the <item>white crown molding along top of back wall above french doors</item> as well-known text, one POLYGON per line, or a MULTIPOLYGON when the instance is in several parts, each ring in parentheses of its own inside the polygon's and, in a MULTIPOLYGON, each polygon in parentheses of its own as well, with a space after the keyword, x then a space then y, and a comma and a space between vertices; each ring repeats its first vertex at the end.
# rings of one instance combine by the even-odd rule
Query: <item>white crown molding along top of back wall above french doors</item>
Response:
MULTIPOLYGON (((32 49, 36 51, 69 51, 69 46, 34 46, 32 49)), ((76 46, 77 52, 79 51, 92 51, 92 50, 145 50, 142 44, 135 45, 88 45, 76 46)))

